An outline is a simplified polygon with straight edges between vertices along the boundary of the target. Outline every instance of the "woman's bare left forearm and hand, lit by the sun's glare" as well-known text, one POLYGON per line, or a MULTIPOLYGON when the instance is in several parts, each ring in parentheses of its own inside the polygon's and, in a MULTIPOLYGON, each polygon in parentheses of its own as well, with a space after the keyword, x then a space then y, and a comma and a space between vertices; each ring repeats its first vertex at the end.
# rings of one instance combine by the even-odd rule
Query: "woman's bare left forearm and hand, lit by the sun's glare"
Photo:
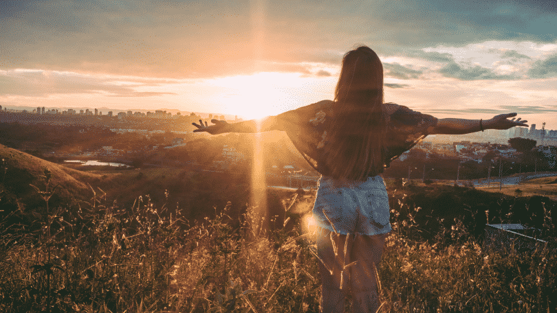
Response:
POLYGON ((211 135, 223 134, 225 132, 269 132, 271 130, 283 130, 279 119, 276 116, 267 116, 261 119, 250 119, 249 121, 239 121, 238 123, 229 124, 226 121, 211 119, 212 124, 208 126, 207 122, 199 119, 199 124, 192 123, 197 127, 193 132, 208 132, 211 135))

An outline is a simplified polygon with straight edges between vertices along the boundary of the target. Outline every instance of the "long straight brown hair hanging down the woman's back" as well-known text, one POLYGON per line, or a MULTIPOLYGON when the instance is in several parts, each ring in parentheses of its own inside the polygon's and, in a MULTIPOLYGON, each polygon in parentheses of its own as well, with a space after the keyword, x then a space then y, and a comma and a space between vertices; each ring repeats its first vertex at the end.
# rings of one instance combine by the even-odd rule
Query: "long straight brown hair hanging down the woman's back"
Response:
POLYGON ((383 66, 369 47, 345 54, 325 146, 329 175, 366 181, 384 169, 383 66))

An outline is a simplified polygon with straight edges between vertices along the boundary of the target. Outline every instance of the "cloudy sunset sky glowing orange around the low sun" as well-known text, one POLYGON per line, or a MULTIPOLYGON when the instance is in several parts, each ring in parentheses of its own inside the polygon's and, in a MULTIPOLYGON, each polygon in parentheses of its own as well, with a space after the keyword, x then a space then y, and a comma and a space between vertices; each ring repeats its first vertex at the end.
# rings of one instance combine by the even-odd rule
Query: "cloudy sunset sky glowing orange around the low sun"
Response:
POLYGON ((0 105, 244 118, 334 97, 368 45, 386 102, 557 128, 555 1, 1 1, 0 105))

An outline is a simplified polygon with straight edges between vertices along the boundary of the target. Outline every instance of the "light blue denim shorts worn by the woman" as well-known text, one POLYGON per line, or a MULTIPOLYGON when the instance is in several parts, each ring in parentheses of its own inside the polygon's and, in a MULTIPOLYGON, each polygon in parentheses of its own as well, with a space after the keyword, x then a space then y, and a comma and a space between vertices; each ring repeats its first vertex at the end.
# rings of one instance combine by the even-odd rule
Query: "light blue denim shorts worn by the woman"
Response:
POLYGON ((389 194, 379 175, 368 177, 367 181, 321 176, 312 213, 316 226, 343 235, 379 235, 391 231, 389 194))

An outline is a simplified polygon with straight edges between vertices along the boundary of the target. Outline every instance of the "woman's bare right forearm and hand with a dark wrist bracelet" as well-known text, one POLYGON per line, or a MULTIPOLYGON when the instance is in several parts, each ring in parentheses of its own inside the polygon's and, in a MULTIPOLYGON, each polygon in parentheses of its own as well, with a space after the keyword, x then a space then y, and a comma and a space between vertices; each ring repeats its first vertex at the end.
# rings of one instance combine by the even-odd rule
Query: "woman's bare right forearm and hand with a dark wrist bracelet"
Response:
POLYGON ((481 126, 479 119, 438 119, 437 126, 435 126, 433 132, 430 132, 430 135, 463 135, 470 132, 479 132, 482 129, 505 130, 514 126, 528 126, 526 124, 528 121, 521 118, 515 121, 515 116, 516 113, 496 115, 492 119, 481 120, 481 126), (510 117, 513 118, 509 119, 510 117))

